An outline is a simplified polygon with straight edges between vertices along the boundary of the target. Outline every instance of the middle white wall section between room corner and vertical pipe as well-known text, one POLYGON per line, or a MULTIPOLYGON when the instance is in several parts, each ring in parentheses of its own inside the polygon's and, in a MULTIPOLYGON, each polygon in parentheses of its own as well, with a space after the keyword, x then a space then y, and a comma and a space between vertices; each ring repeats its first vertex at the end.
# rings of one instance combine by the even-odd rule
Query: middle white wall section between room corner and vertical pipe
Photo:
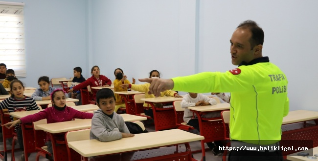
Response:
MULTIPOLYGON (((114 80, 122 68, 131 81, 194 74, 194 0, 92 1, 93 63, 114 80)), ((137 82, 138 83, 138 82, 137 82)))

